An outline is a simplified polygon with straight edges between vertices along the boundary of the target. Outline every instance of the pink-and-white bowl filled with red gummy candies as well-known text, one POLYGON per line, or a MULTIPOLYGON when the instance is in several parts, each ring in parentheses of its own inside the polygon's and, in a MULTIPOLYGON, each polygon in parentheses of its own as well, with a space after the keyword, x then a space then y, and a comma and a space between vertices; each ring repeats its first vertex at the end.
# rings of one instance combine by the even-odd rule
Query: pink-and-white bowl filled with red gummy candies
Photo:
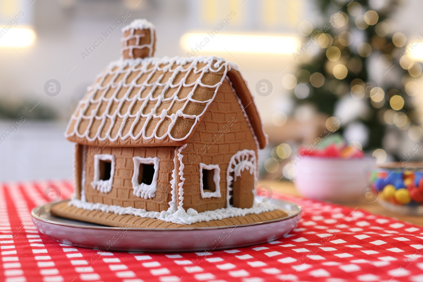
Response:
POLYGON ((369 185, 376 158, 347 145, 341 137, 326 137, 300 148, 295 167, 295 186, 305 197, 332 202, 359 200, 369 185))

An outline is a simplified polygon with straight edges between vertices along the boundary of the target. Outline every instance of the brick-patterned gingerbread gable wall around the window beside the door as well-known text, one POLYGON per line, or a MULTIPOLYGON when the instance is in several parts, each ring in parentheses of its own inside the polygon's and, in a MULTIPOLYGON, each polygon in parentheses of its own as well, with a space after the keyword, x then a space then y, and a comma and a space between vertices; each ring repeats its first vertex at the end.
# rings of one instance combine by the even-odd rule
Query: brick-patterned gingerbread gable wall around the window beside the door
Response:
MULTIPOLYGON (((182 162, 185 178, 183 186, 185 210, 194 208, 198 212, 203 212, 226 208, 226 169, 231 156, 243 149, 254 150, 257 154, 257 145, 242 107, 230 83, 224 80, 190 142, 181 152, 184 156, 182 162), (219 164, 220 198, 201 198, 199 188, 201 162, 219 164)), ((176 164, 179 168, 179 161, 176 164)), ((180 182, 180 179, 178 181, 180 182)))

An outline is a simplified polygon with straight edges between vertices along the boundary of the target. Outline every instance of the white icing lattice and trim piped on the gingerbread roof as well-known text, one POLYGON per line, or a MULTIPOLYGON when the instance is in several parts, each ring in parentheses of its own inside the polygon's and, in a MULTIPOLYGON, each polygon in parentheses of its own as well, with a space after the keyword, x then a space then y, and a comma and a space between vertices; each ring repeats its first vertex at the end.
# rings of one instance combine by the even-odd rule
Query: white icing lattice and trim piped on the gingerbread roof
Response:
MULTIPOLYGON (((131 138, 132 140, 135 141, 135 140, 139 140, 140 137, 143 137, 144 140, 151 140, 153 138, 155 138, 157 140, 163 140, 166 137, 169 137, 169 139, 171 141, 174 141, 174 142, 182 142, 184 140, 187 140, 187 138, 190 137, 190 135, 193 133, 193 131, 195 130, 195 128, 198 125, 198 122, 200 122, 201 117, 206 112, 206 110, 208 110, 209 104, 211 104, 211 102, 214 100, 214 98, 215 98, 215 96, 217 94, 217 91, 218 91, 220 85, 222 84, 223 80, 225 80, 225 78, 228 77, 228 72, 231 71, 232 69, 233 70, 236 70, 241 75, 241 73, 239 71, 239 68, 238 68, 238 66, 235 63, 233 63, 231 61, 228 61, 228 60, 225 60, 222 57, 216 57, 216 56, 210 56, 210 57, 200 56, 200 57, 191 57, 191 58, 188 58, 188 57, 162 57, 162 58, 146 57, 146 58, 137 58, 137 59, 122 59, 121 58, 119 60, 112 61, 112 62, 110 62, 108 64, 108 66, 104 69, 104 71, 102 71, 99 75, 96 76, 96 79, 95 79, 95 81, 97 81, 99 78, 103 78, 103 80, 99 81, 94 87, 90 86, 90 87, 87 88, 87 94, 91 90, 92 90, 92 93, 91 93, 90 96, 87 96, 87 94, 85 94, 84 98, 80 101, 80 103, 78 104, 78 107, 77 107, 78 110, 76 110, 73 113, 71 119, 69 120, 68 125, 66 126, 66 131, 65 131, 65 134, 64 135, 65 135, 65 137, 68 140, 71 140, 71 141, 74 141, 74 142, 78 142, 77 139, 85 139, 87 142, 84 142, 84 143, 88 143, 88 144, 89 143, 93 143, 93 142, 94 143, 96 143, 96 142, 99 142, 99 143, 101 143, 101 142, 116 142, 116 141, 118 141, 118 139, 121 139, 122 141, 125 141, 128 138, 131 138), (211 63, 213 63, 213 61, 216 61, 216 63, 214 63, 214 65, 213 65, 214 69, 212 69, 212 66, 211 66, 211 63), (195 70, 197 70, 196 66, 197 66, 198 63, 205 63, 206 66, 204 66, 203 68, 200 69, 200 71, 202 71, 202 74, 200 75, 200 77, 198 77, 198 79, 195 82, 193 82, 193 83, 191 83, 189 85, 184 85, 184 87, 193 86, 194 88, 191 90, 191 92, 189 93, 189 95, 186 98, 181 99, 181 100, 178 100, 178 101, 187 100, 187 101, 194 101, 194 102, 196 102, 196 100, 193 100, 193 99, 190 100, 190 98, 193 95, 193 92, 195 90, 195 87, 197 87, 198 85, 201 85, 201 86, 207 87, 207 88, 216 88, 215 91, 214 91, 214 95, 211 97, 211 99, 209 99, 207 101, 202 101, 203 103, 206 103, 206 106, 204 107, 204 109, 201 112, 201 114, 199 114, 199 115, 186 115, 186 114, 184 114, 183 113, 183 110, 185 109, 185 106, 186 106, 187 103, 185 103, 185 105, 181 109, 177 110, 176 114, 172 114, 170 116, 167 116, 167 111, 165 111, 165 110, 162 110, 162 113, 160 113, 159 115, 157 113, 154 114, 154 115, 151 114, 151 113, 149 113, 149 114, 147 114, 148 116, 146 117, 146 121, 143 124, 143 129, 141 129, 141 131, 136 136, 134 136, 132 133, 133 133, 133 130, 134 130, 135 125, 140 120, 140 112, 142 112, 142 110, 143 110, 143 107, 141 107, 140 110, 138 110, 138 112, 136 113, 136 116, 135 117, 132 117, 132 118, 135 118, 135 121, 132 123, 132 126, 131 126, 129 132, 127 132, 124 136, 122 136, 122 133, 123 133, 123 130, 124 130, 124 124, 126 123, 126 119, 129 117, 128 112, 126 112, 124 115, 122 115, 122 117, 119 117, 119 118, 123 118, 123 120, 121 122, 121 125, 119 126, 118 134, 116 134, 115 137, 110 138, 110 133, 111 133, 110 131, 113 129, 113 124, 115 124, 115 120, 117 118, 116 116, 118 115, 118 112, 120 110, 120 109, 118 109, 118 110, 115 110, 115 113, 114 113, 114 116, 113 117, 109 117, 112 120, 113 123, 112 123, 112 126, 110 126, 109 129, 107 130, 107 134, 105 134, 105 137, 104 138, 101 138, 100 137, 100 133, 103 130, 103 126, 104 126, 105 119, 106 119, 106 117, 104 117, 104 116, 102 117, 103 118, 103 121, 100 124, 101 129, 98 129, 98 131, 96 132, 97 134, 94 137, 91 137, 91 138, 89 137, 89 134, 90 134, 89 129, 91 128, 91 125, 93 123, 93 120, 96 118, 96 115, 94 114, 94 115, 91 115, 91 116, 85 116, 85 118, 81 118, 82 115, 81 114, 78 114, 78 111, 80 111, 81 113, 85 113, 85 111, 87 110, 87 108, 89 107, 89 105, 93 103, 93 101, 90 101, 90 99, 93 98, 93 96, 95 96, 96 87, 98 87, 98 85, 102 85, 102 82, 107 77, 107 74, 105 74, 105 71, 108 71, 110 73, 111 70, 113 68, 115 68, 115 67, 120 67, 121 70, 123 70, 123 68, 126 68, 127 66, 129 66, 129 67, 135 67, 135 66, 141 65, 141 66, 143 66, 142 68, 140 68, 140 70, 141 70, 142 73, 151 73, 149 75, 149 77, 145 79, 145 82, 147 82, 150 79, 151 75, 154 74, 156 71, 165 71, 165 72, 166 71, 171 71, 172 70, 172 66, 174 66, 175 64, 176 65, 179 65, 178 68, 180 68, 181 66, 186 65, 187 63, 191 63, 191 65, 188 68, 184 68, 184 71, 186 71, 187 74, 193 68, 195 68, 195 70), (154 71, 151 71, 150 70, 151 68, 147 68, 150 65, 154 65, 154 67, 153 67, 153 68, 155 68, 154 71), (160 68, 159 66, 162 66, 162 65, 165 65, 165 66, 162 67, 162 68, 160 68), (201 78, 203 76, 203 73, 205 73, 205 72, 221 72, 222 71, 222 68, 224 68, 224 71, 223 71, 222 78, 220 79, 220 82, 219 83, 217 83, 216 85, 203 85, 203 83, 201 83, 201 78), (148 71, 143 72, 143 69, 145 71, 146 70, 148 70, 148 71), (204 71, 204 70, 206 70, 206 71, 204 71), (87 100, 89 102, 86 102, 87 100), (85 103, 85 107, 82 108, 82 109, 80 109, 80 106, 81 106, 81 103, 82 102, 84 102, 84 103, 86 102, 85 103), (78 117, 78 115, 80 115, 80 117, 78 117), (171 122, 170 122, 170 124, 168 126, 168 131, 167 131, 166 134, 158 137, 157 134, 156 134, 157 133, 157 129, 160 126, 160 124, 163 122, 163 120, 164 120, 165 117, 170 118, 170 120, 171 120, 171 122), (190 128, 190 131, 184 137, 182 137, 182 138, 173 137, 172 134, 170 133, 170 131, 173 129, 173 126, 176 123, 177 118, 179 118, 179 117, 181 117, 181 118, 190 118, 192 120, 195 120, 194 123, 192 124, 191 128, 190 128), (151 120, 151 118, 160 118, 160 120, 157 122, 157 124, 155 126, 155 129, 154 129, 153 133, 151 134, 151 136, 146 137, 145 136, 146 126, 147 126, 149 120, 151 120), (87 129, 85 130, 85 132, 83 132, 82 134, 80 134, 78 132, 78 129, 79 129, 80 122, 81 122, 82 119, 85 119, 85 120, 90 119, 90 120, 89 120, 89 124, 88 124, 87 129), (68 133, 69 130, 71 129, 71 125, 72 125, 72 123, 74 121, 75 121, 75 124, 73 125, 72 131, 70 133, 68 133)), ((174 78, 175 74, 178 74, 179 73, 179 72, 176 72, 175 69, 173 69, 173 72, 174 72, 174 74, 172 74, 172 77, 171 78, 174 78)), ((187 76, 187 75, 185 75, 185 76, 187 76)), ((132 82, 130 82, 129 86, 132 83, 134 83, 138 79, 138 77, 139 76, 137 76, 136 78, 134 78, 132 80, 132 82)), ((243 82, 244 82, 244 84, 245 84, 245 86, 247 88, 247 82, 245 81, 244 77, 241 77, 241 78, 242 78, 242 80, 243 80, 243 82)), ((125 79, 126 79, 126 76, 125 76, 124 79, 122 79, 120 82, 118 82, 119 83, 118 84, 118 87, 119 88, 121 88, 123 86, 122 81, 124 81, 125 79)), ((110 82, 108 82, 103 87, 103 90, 104 89, 107 89, 107 87, 110 87, 110 84, 113 83, 112 82, 113 80, 114 79, 112 79, 110 82)), ((157 81, 158 80, 159 79, 157 79, 157 81)), ((173 82, 173 80, 171 80, 171 79, 169 79, 169 81, 172 81, 173 82)), ((182 78, 180 80, 180 82, 178 82, 178 84, 181 84, 181 83, 184 84, 184 82, 185 82, 185 77, 182 78)), ((154 83, 157 83, 157 82, 153 82, 151 84, 154 84, 154 83)), ((168 82, 162 83, 162 86, 164 86, 164 87, 170 87, 170 85, 172 85, 172 84, 171 83, 168 84, 168 82)), ((173 88, 176 87, 175 85, 172 85, 172 86, 173 86, 173 88)), ((178 86, 178 87, 181 87, 181 86, 178 86)), ((176 91, 175 93, 178 93, 178 91, 176 91)), ((247 94, 251 96, 251 99, 253 100, 253 105, 256 108, 253 95, 251 95, 250 91, 248 91, 247 94)), ((114 95, 116 95, 116 94, 114 94, 114 95)), ((149 93, 148 95, 151 95, 151 93, 149 93)), ((126 99, 127 96, 128 96, 128 93, 126 93, 125 96, 123 96, 123 98, 121 98, 121 99, 126 99)), ((173 94, 173 96, 176 96, 176 94, 173 94)), ((173 96, 171 97, 172 99, 174 99, 173 96)), ((136 97, 137 96, 134 96, 134 98, 136 98, 136 97)), ((155 99, 159 99, 159 97, 158 98, 155 98, 155 99)), ((100 98, 102 98, 102 97, 100 97, 100 98)), ((112 98, 114 98, 114 96, 112 96, 112 98)), ((149 98, 150 97, 147 96, 145 99, 147 101, 150 101, 150 100, 148 100, 149 98)), ((176 96, 176 98, 177 98, 177 96, 176 96)), ((154 109, 156 109, 156 107, 154 109)), ((132 108, 132 104, 129 107, 129 111, 130 111, 131 108, 132 108)), ((108 109, 104 111, 103 115, 106 115, 107 111, 108 111, 108 109)), ((261 120, 261 118, 260 118, 260 120, 261 120)), ((267 137, 266 134, 263 131, 262 120, 261 120, 261 133, 265 136, 265 138, 267 137)), ((158 145, 158 144, 156 143, 155 145, 158 145)))

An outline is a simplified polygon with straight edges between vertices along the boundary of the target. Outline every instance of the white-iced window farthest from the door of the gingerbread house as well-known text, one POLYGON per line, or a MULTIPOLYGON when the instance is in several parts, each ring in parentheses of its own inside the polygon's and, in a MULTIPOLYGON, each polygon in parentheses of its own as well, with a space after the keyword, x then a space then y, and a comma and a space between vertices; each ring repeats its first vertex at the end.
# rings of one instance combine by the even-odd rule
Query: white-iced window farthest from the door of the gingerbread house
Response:
POLYGON ((98 154, 94 156, 94 178, 91 186, 102 193, 112 191, 113 176, 115 175, 115 156, 98 154))

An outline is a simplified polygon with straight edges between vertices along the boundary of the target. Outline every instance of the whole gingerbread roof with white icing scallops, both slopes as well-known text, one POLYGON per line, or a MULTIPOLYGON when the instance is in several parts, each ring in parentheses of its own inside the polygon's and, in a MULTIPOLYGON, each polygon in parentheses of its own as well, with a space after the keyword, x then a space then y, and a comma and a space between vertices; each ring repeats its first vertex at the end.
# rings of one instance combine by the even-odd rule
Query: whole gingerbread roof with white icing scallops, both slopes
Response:
POLYGON ((165 146, 187 143, 228 77, 261 148, 260 117, 237 66, 218 57, 136 58, 110 63, 88 87, 65 136, 82 144, 165 146))

